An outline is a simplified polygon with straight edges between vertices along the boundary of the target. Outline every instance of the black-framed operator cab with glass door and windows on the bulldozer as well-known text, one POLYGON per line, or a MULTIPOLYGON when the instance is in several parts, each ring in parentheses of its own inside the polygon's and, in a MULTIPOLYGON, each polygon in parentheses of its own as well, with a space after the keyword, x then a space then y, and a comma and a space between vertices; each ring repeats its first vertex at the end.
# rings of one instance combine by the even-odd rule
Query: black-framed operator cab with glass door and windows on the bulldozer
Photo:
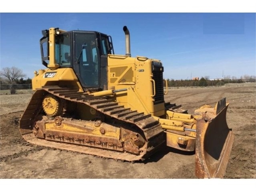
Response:
MULTIPOLYGON (((48 30, 40 39, 42 64, 48 66, 48 30)), ((49 49, 48 49, 49 50, 49 49)), ((85 89, 104 90, 107 85, 107 55, 114 54, 111 36, 94 31, 69 31, 55 35, 55 64, 74 69, 85 89)))

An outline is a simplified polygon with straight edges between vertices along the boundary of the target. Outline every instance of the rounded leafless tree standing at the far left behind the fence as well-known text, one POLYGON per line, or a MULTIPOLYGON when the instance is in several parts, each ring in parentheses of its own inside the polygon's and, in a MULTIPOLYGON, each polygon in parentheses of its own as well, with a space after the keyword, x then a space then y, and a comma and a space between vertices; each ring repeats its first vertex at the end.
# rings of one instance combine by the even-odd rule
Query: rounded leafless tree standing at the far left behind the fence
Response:
POLYGON ((15 88, 12 86, 12 84, 16 79, 26 77, 26 74, 24 74, 21 69, 14 66, 4 67, 0 71, 0 77, 2 77, 4 81, 10 84, 10 93, 14 94, 16 91, 15 91, 15 88))

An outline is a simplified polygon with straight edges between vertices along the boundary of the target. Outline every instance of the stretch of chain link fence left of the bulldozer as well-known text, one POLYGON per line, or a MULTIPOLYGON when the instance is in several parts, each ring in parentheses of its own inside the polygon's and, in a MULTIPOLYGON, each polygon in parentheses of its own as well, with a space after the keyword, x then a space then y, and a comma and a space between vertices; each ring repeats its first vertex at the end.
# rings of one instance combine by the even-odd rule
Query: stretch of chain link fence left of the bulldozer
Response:
POLYGON ((32 94, 32 84, 1 84, 0 94, 32 94))

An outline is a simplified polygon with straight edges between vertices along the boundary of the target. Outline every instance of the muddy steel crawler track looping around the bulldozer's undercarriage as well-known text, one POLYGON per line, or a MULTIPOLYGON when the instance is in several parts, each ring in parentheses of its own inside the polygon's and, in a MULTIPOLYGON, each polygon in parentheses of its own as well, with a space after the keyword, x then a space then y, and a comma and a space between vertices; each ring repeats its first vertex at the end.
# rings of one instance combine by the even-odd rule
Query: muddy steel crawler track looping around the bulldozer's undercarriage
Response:
MULTIPOLYGON (((131 130, 131 128, 129 128, 129 130, 131 130)), ((131 110, 130 108, 124 108, 124 106, 109 99, 107 96, 96 97, 78 92, 74 89, 60 87, 43 87, 43 89, 37 90, 34 93, 20 119, 20 132, 22 137, 32 144, 124 161, 146 159, 165 142, 163 129, 159 122, 151 117, 151 114, 144 114, 137 112, 136 110, 131 110), (69 139, 70 143, 67 143, 67 141, 64 142, 64 139, 63 142, 61 142, 61 140, 49 141, 42 138, 36 138, 32 133, 32 130, 37 116, 42 112, 42 100, 44 96, 49 93, 61 98, 62 100, 90 106, 101 114, 114 118, 117 122, 125 124, 127 127, 132 127, 132 131, 141 132, 141 136, 145 139, 143 148, 141 148, 139 154, 136 155, 125 151, 117 151, 114 148, 112 150, 95 148, 93 145, 81 144, 81 140, 78 143, 75 142, 74 139, 69 139)), ((85 140, 82 140, 82 142, 85 143, 85 140)))

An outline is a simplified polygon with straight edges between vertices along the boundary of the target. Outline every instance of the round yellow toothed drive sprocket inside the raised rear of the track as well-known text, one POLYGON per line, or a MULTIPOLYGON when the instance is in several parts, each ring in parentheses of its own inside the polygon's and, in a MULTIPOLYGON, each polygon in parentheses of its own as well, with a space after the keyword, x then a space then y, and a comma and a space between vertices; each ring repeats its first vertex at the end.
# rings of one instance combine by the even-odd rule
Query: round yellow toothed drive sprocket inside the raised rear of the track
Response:
POLYGON ((63 104, 60 99, 54 95, 48 94, 42 101, 42 108, 48 116, 61 116, 63 113, 63 104))

